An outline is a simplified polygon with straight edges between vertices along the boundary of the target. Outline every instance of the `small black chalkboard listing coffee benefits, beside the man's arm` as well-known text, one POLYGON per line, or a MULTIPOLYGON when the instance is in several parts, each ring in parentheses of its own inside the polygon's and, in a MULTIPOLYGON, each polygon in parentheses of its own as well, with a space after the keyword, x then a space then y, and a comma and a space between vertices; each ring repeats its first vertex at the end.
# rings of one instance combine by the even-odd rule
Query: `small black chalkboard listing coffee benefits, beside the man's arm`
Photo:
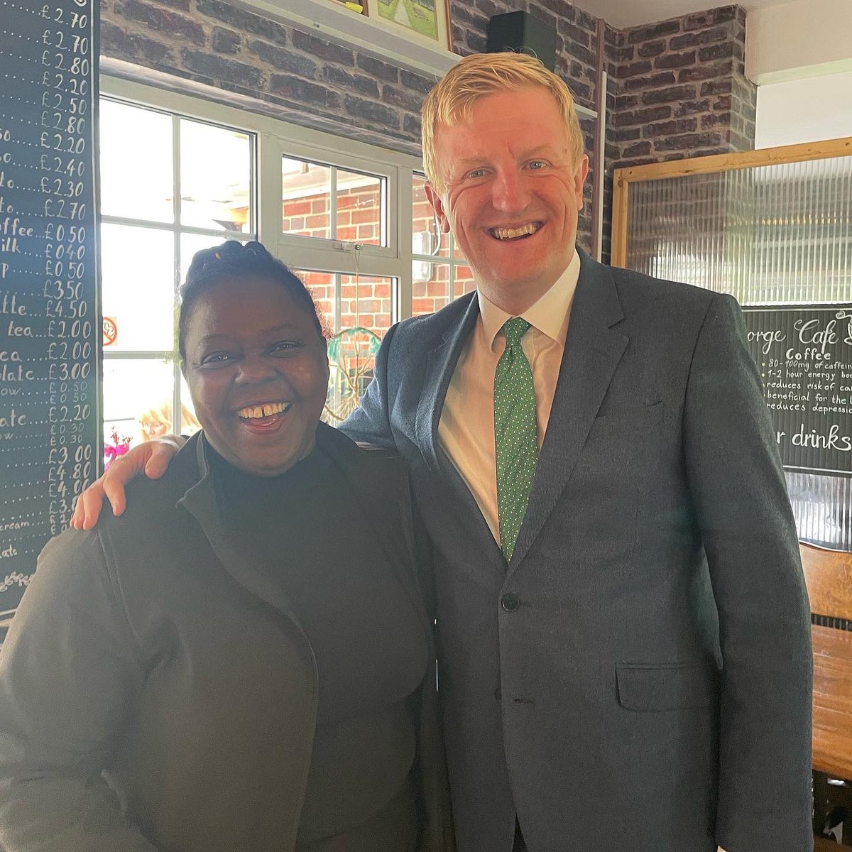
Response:
POLYGON ((852 305, 744 312, 784 466, 852 476, 852 305))

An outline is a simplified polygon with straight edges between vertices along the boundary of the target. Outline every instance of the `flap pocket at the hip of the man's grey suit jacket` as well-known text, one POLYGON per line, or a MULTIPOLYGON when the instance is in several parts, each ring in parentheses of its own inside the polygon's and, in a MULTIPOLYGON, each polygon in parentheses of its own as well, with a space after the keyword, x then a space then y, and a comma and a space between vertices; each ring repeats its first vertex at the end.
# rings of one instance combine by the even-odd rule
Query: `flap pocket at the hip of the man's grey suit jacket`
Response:
POLYGON ((717 673, 707 665, 618 665, 619 704, 625 710, 683 710, 717 700, 717 673))

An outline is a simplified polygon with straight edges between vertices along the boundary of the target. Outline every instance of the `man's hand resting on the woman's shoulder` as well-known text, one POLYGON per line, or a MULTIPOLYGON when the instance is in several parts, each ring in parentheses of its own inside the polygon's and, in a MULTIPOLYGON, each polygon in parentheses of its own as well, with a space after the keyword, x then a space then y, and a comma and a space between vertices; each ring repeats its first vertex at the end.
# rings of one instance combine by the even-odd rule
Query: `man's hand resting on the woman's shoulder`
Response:
POLYGON ((96 479, 77 498, 71 526, 76 530, 90 530, 94 527, 101 515, 104 498, 109 500, 112 514, 121 515, 126 506, 124 486, 141 473, 148 479, 159 479, 183 442, 184 439, 176 435, 147 440, 124 456, 119 456, 109 466, 107 473, 96 479))

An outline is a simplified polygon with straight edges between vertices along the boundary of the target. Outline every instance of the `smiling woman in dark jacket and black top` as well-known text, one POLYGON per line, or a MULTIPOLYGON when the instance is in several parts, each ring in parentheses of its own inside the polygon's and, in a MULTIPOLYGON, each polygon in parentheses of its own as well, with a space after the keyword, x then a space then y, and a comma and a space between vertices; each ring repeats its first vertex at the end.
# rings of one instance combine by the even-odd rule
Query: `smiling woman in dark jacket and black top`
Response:
POLYGON ((320 423, 314 303, 262 245, 193 258, 179 348, 202 430, 48 544, 3 646, 0 848, 446 852, 401 459, 320 423))

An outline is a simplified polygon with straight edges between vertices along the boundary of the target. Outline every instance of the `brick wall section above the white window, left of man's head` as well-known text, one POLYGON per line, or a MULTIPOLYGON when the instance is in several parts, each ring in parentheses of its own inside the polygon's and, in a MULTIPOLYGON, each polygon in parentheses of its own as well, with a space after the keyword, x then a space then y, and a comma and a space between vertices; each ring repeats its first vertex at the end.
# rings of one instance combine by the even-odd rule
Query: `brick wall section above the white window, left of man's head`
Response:
POLYGON ((222 0, 101 0, 101 54, 406 152, 417 150, 420 105, 434 83, 222 0))

